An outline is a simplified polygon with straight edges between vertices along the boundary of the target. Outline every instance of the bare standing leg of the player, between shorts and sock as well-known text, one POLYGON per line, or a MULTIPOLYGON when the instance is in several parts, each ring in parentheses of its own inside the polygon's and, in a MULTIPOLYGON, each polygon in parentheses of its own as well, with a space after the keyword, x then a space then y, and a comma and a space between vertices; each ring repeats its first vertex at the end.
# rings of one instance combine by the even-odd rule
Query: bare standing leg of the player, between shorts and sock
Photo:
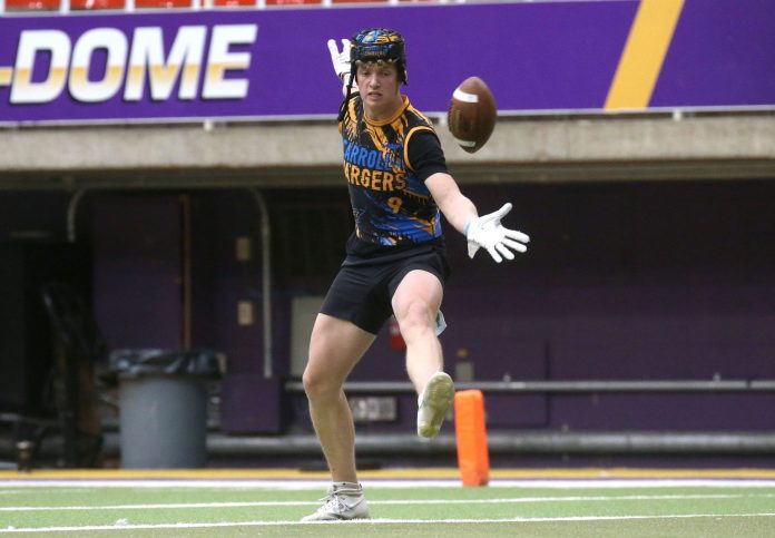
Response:
POLYGON ((325 314, 312 330, 304 390, 334 482, 357 482, 355 428, 342 385, 373 341, 370 332, 325 314))

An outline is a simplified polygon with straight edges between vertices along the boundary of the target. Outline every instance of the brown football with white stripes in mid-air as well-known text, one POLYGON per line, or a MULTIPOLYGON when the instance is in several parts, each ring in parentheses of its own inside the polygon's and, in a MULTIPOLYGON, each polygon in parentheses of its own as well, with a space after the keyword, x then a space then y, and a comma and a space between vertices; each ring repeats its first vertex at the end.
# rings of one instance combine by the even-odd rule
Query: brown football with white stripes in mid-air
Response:
POLYGON ((458 145, 472 154, 490 139, 497 117, 490 88, 481 78, 469 77, 452 94, 447 125, 458 145))

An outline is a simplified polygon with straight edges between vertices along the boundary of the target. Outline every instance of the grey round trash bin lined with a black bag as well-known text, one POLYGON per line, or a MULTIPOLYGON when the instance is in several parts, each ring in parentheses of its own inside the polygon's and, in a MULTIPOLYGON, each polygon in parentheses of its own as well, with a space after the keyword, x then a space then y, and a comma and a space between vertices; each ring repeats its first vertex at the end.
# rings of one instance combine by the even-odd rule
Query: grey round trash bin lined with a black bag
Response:
POLYGON ((204 467, 206 381, 220 375, 216 353, 116 350, 109 358, 118 376, 121 467, 204 467))

